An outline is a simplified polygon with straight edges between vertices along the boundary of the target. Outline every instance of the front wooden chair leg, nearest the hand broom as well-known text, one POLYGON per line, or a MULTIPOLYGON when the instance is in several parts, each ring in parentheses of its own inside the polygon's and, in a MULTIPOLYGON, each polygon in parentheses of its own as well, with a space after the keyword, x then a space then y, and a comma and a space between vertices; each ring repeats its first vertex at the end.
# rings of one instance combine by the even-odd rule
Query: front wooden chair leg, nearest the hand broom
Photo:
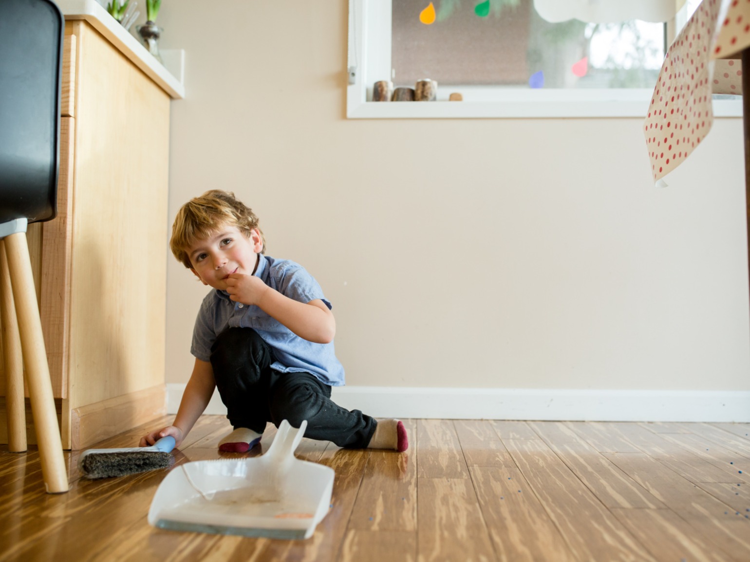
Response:
POLYGON ((5 252, 16 300, 16 314, 21 333, 23 363, 26 365, 28 396, 37 432, 44 486, 50 494, 68 492, 68 472, 62 456, 62 439, 57 423, 55 398, 49 380, 49 364, 44 349, 44 336, 39 317, 31 259, 28 256, 26 232, 5 238, 5 252))

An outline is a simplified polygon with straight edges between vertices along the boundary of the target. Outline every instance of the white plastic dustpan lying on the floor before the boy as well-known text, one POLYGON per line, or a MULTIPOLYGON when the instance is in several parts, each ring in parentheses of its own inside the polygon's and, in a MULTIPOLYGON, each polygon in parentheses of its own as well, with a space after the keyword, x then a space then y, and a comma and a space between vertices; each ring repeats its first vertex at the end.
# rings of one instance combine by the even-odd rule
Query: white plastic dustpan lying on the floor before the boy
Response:
POLYGON ((269 450, 254 459, 187 462, 160 483, 148 522, 172 531, 307 539, 326 516, 335 472, 296 459, 305 435, 281 422, 269 450))

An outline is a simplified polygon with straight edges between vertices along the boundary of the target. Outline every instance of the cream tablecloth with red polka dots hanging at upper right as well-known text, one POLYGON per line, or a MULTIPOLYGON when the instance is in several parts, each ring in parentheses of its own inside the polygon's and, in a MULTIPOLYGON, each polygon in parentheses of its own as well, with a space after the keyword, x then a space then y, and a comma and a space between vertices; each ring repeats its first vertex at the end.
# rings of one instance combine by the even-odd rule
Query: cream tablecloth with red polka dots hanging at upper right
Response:
POLYGON ((742 94, 740 61, 711 59, 750 45, 750 26, 742 40, 730 31, 745 19, 750 23, 750 0, 703 0, 667 50, 643 124, 655 181, 706 138, 713 124, 712 94, 742 94), (731 37, 722 38, 724 28, 731 37))

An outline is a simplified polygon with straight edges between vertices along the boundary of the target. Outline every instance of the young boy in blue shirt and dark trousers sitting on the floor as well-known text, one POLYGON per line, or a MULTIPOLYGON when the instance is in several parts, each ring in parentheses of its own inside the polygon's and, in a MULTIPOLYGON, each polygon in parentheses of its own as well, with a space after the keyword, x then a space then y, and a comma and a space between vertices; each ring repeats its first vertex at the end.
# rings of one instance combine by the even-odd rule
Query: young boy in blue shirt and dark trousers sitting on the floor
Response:
POLYGON ((172 435, 179 447, 217 387, 234 431, 219 450, 244 453, 266 422, 288 420, 305 437, 339 447, 407 450, 404 424, 347 411, 331 400, 344 384, 335 356, 331 303, 302 266, 270 258, 253 211, 234 193, 207 191, 178 211, 172 253, 204 285, 193 329, 195 366, 174 425, 141 438, 140 446, 172 435))

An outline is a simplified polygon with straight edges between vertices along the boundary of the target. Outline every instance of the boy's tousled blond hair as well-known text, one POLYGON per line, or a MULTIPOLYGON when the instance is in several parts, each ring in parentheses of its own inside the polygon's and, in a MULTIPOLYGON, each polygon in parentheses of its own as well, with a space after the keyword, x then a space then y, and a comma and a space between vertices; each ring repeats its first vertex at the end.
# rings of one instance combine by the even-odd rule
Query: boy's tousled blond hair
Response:
POLYGON ((169 248, 178 262, 186 268, 192 268, 187 249, 196 241, 208 238, 222 226, 236 226, 242 234, 250 236, 253 229, 258 229, 263 241, 263 253, 266 250, 266 237, 258 226, 258 217, 253 210, 236 199, 234 193, 222 190, 209 190, 202 196, 193 197, 177 211, 172 225, 172 238, 169 248))

